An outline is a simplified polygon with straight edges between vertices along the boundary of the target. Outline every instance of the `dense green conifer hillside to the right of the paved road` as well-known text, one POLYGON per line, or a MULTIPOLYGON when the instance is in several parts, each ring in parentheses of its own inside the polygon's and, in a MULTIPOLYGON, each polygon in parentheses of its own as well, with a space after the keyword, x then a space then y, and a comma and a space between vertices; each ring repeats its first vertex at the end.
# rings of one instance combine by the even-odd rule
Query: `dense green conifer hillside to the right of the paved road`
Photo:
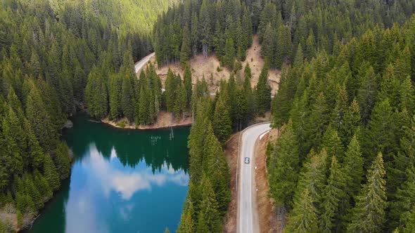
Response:
POLYGON ((272 197, 287 232, 414 232, 415 16, 283 69, 272 197))

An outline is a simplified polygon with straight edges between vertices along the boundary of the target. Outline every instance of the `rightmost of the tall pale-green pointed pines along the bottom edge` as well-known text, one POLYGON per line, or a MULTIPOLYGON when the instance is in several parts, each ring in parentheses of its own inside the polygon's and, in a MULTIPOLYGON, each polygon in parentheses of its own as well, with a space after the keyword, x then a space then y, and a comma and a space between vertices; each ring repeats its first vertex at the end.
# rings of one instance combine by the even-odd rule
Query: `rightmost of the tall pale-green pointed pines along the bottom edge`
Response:
POLYGON ((366 178, 367 183, 362 187, 362 194, 357 197, 353 209, 352 222, 347 227, 350 232, 381 232, 383 229, 387 202, 381 153, 373 160, 366 178))

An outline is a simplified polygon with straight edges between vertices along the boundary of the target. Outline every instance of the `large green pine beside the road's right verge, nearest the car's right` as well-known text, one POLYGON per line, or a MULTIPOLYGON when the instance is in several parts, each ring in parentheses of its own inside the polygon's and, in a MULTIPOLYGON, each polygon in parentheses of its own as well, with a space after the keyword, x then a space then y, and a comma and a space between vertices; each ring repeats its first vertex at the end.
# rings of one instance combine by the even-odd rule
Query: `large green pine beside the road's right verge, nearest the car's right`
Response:
POLYGON ((281 128, 281 137, 276 140, 274 153, 267 164, 270 192, 276 204, 292 206, 300 171, 300 154, 292 121, 281 128))

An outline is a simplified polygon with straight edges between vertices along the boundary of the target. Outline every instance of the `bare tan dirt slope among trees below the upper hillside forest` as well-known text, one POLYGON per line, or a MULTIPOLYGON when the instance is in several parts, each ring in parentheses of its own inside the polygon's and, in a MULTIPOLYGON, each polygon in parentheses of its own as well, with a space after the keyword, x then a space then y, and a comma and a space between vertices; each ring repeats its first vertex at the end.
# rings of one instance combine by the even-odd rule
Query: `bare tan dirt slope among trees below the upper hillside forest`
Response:
MULTIPOLYGON (((243 69, 245 69, 245 65, 248 64, 248 62, 250 64, 253 74, 253 79, 251 80, 253 87, 257 84, 260 72, 264 67, 264 60, 261 58, 260 51, 261 46, 258 41, 258 36, 254 36, 253 45, 247 51, 246 60, 242 62, 243 69)), ((172 63, 170 65, 158 67, 155 62, 155 58, 151 58, 151 62, 157 68, 156 72, 162 79, 163 83, 167 77, 167 71, 169 69, 172 69, 175 73, 179 73, 181 76, 184 74, 184 69, 180 67, 179 63, 172 63)), ((229 69, 224 67, 222 67, 222 71, 218 72, 217 67, 220 67, 220 64, 215 54, 210 55, 208 58, 204 58, 203 55, 197 55, 196 57, 191 58, 189 65, 193 74, 193 84, 196 84, 197 79, 202 79, 203 76, 205 76, 206 81, 210 84, 211 91, 216 91, 219 86, 219 81, 221 79, 228 79, 231 74, 229 69)), ((239 81, 243 80, 243 69, 236 72, 236 79, 239 81)), ((281 71, 278 69, 269 70, 269 84, 272 86, 273 94, 278 90, 280 75, 281 71)))

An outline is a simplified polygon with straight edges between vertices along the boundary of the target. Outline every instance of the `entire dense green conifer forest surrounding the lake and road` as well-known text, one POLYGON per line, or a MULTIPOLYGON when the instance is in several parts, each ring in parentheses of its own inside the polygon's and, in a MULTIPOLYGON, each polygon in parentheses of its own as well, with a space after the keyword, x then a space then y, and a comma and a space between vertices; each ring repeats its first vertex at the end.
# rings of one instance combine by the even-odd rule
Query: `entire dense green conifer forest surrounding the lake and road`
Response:
POLYGON ((70 175, 59 137, 81 109, 136 126, 193 116, 178 232, 222 231, 223 147, 270 110, 270 195, 287 232, 415 232, 413 1, 176 2, 0 2, 0 232, 29 224, 70 175), (190 58, 240 69, 253 34, 265 60, 255 87, 249 64, 214 98, 205 79, 192 84, 190 58), (137 78, 134 61, 153 50, 184 76, 162 86, 149 65, 137 78), (282 70, 273 102, 269 69, 282 70))

